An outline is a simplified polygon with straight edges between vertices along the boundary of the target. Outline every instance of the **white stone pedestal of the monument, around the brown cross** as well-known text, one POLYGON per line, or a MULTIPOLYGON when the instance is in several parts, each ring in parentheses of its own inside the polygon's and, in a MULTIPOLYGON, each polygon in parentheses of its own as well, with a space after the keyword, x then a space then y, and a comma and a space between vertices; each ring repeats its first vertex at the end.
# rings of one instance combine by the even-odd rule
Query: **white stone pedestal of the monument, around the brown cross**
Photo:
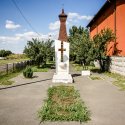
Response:
POLYGON ((56 73, 53 75, 52 82, 54 83, 72 83, 73 79, 69 74, 69 43, 63 42, 63 48, 66 51, 63 52, 63 62, 61 62, 61 41, 55 40, 55 61, 56 61, 56 73))

